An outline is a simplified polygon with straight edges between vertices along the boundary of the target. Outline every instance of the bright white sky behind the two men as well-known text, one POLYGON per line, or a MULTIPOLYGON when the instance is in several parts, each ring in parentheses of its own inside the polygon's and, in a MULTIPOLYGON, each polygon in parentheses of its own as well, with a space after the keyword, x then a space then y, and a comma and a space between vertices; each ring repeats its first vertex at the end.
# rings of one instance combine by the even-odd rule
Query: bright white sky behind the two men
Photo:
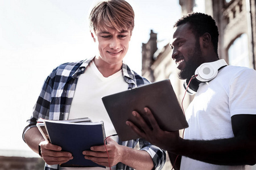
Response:
MULTIPOLYGON (((127 0, 135 27, 125 62, 141 74, 142 43, 150 30, 170 42, 181 16, 178 0, 127 0)), ((94 0, 0 0, 0 156, 35 156, 22 140, 43 81, 60 63, 94 55, 88 12, 94 0), (7 150, 8 152, 4 152, 7 150), (15 152, 10 152, 13 150, 15 152)))

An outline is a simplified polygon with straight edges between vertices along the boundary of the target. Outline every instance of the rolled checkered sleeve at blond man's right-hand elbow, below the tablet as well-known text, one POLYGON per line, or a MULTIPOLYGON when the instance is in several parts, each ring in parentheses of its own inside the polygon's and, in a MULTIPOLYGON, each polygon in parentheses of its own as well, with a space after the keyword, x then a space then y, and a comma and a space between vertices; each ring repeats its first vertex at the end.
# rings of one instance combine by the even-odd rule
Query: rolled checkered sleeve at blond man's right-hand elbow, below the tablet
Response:
POLYGON ((139 139, 140 150, 144 150, 150 154, 152 161, 154 163, 154 169, 162 169, 166 163, 166 151, 160 149, 157 146, 151 145, 148 141, 144 139, 139 139))

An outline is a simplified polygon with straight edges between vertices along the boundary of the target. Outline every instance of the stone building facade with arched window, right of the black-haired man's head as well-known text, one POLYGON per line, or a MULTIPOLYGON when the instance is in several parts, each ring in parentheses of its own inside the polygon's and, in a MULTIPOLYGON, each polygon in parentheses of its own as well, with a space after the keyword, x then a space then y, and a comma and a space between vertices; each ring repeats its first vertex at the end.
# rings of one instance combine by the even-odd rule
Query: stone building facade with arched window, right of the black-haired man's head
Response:
POLYGON ((220 29, 220 58, 230 65, 255 69, 255 1, 213 1, 212 6, 213 18, 220 29), (219 9, 221 12, 217 12, 219 9))

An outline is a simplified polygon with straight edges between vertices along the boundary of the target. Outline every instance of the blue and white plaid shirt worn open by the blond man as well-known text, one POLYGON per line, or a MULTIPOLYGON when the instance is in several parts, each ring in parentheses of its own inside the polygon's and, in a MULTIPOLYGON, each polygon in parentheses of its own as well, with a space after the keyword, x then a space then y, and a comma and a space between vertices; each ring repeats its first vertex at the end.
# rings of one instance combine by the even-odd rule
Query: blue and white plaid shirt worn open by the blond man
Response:
MULTIPOLYGON (((54 69, 52 73, 46 78, 42 91, 34 107, 34 112, 29 120, 28 125, 23 130, 24 134, 30 128, 36 127, 36 121, 39 117, 49 120, 67 120, 68 113, 71 108, 73 95, 79 75, 85 72, 86 66, 92 61, 93 58, 85 59, 79 62, 64 63, 54 69)), ((148 84, 147 79, 135 73, 133 70, 123 63, 122 65, 123 78, 129 84, 129 88, 134 88, 148 84)), ((139 142, 140 150, 147 151, 150 154, 154 163, 155 169, 162 169, 166 162, 166 153, 159 147, 151 145, 143 139, 136 139, 131 141, 122 142, 118 140, 119 145, 134 148, 139 142)), ((133 169, 125 164, 118 163, 119 169, 133 169)), ((47 165, 45 169, 59 169, 58 165, 47 165)))

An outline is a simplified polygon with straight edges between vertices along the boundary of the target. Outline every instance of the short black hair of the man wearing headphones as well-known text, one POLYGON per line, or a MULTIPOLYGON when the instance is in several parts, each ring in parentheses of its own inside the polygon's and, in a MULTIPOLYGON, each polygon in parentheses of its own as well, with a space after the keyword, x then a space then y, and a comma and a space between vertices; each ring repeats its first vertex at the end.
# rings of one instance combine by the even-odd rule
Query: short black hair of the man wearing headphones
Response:
POLYGON ((185 23, 191 25, 192 32, 195 33, 196 37, 200 37, 208 32, 212 37, 214 52, 218 55, 218 27, 212 16, 200 12, 191 12, 177 20, 174 27, 185 23))

